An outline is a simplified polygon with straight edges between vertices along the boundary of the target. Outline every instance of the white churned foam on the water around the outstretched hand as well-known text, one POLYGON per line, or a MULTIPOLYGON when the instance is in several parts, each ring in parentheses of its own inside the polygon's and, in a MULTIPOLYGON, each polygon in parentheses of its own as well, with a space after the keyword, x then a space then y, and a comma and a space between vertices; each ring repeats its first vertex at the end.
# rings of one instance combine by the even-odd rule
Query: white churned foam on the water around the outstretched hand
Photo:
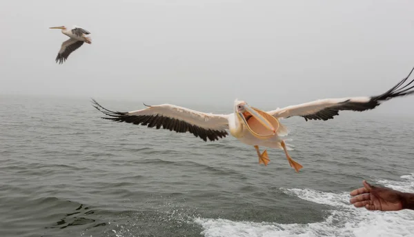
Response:
MULTIPOLYGON (((386 187, 414 192, 414 174, 402 176, 403 181, 378 181, 386 187)), ((224 219, 195 218, 206 237, 218 236, 414 236, 414 212, 371 212, 349 204, 349 192, 339 194, 313 189, 284 189, 282 192, 313 203, 331 206, 329 216, 319 223, 279 224, 236 222, 224 219)))

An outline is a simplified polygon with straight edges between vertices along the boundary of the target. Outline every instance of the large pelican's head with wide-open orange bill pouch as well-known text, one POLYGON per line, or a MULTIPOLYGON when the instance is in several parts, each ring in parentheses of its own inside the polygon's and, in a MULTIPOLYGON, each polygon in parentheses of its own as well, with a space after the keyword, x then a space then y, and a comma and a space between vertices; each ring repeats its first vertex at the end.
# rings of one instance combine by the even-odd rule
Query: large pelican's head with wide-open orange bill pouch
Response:
POLYGON ((279 121, 262 110, 250 107, 246 101, 235 101, 235 114, 239 122, 257 138, 268 138, 276 134, 279 121))

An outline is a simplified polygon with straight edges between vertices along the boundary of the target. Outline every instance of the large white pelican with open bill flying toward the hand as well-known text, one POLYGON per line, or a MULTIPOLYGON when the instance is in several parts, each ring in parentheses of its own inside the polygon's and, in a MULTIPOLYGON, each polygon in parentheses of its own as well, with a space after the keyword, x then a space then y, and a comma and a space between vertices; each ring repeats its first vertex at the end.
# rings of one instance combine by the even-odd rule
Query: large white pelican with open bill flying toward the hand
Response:
POLYGON ((204 141, 224 138, 228 135, 226 130, 230 130, 230 134, 239 141, 255 147, 259 164, 267 165, 270 161, 267 150, 261 154, 259 146, 277 148, 284 150, 290 167, 299 172, 302 165, 294 161, 288 154, 286 143, 281 138, 288 134, 288 130, 279 122, 279 118, 302 116, 305 121, 326 121, 338 115, 340 110, 373 110, 388 99, 414 94, 414 85, 411 85, 414 79, 407 81, 413 70, 400 83, 379 96, 320 99, 268 112, 250 107, 246 101, 238 101, 237 99, 234 102, 232 114, 208 114, 170 104, 144 104, 146 108, 143 110, 114 112, 102 107, 94 99, 92 99, 92 103, 97 110, 109 116, 102 118, 136 125, 148 125, 148 127, 156 127, 157 129, 162 127, 175 132, 190 132, 204 141), (408 87, 408 85, 411 86, 408 87))

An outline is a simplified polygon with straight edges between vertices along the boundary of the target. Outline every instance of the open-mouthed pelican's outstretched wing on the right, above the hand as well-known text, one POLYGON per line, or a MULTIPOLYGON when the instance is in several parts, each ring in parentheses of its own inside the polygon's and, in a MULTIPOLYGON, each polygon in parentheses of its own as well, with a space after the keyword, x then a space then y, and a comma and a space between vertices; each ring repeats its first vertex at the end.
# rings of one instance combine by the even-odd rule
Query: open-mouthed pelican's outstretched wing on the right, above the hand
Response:
POLYGON ((291 116, 302 116, 306 121, 308 119, 328 120, 338 115, 339 110, 364 111, 372 110, 380 103, 388 99, 414 94, 414 79, 407 81, 413 73, 414 68, 402 79, 400 83, 380 96, 349 97, 342 99, 322 99, 303 103, 300 105, 291 105, 281 109, 269 111, 268 113, 276 118, 289 118, 291 116))

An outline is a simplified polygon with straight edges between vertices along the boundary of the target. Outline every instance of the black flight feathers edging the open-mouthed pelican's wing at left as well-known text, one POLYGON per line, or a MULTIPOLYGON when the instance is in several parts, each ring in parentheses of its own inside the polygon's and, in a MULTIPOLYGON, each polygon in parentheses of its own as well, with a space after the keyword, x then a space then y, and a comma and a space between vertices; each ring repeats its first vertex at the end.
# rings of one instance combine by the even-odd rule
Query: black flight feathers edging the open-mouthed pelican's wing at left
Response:
MULTIPOLYGON (((100 105, 95 99, 91 99, 92 106, 95 107, 97 110, 106 114, 110 117, 101 117, 104 119, 109 119, 111 121, 117 122, 126 122, 132 123, 136 125, 146 125, 147 127, 155 127, 157 130, 161 127, 165 130, 174 130, 175 132, 190 132, 195 137, 199 137, 204 141, 210 140, 215 141, 219 140, 219 138, 224 138, 228 136, 226 130, 211 130, 199 127, 197 125, 192 125, 190 123, 186 123, 185 121, 180 121, 176 118, 170 118, 167 116, 160 116, 156 115, 129 115, 128 112, 115 112, 112 110, 108 110, 102 105, 100 105)), ((146 105, 148 106, 148 105, 146 105)))

